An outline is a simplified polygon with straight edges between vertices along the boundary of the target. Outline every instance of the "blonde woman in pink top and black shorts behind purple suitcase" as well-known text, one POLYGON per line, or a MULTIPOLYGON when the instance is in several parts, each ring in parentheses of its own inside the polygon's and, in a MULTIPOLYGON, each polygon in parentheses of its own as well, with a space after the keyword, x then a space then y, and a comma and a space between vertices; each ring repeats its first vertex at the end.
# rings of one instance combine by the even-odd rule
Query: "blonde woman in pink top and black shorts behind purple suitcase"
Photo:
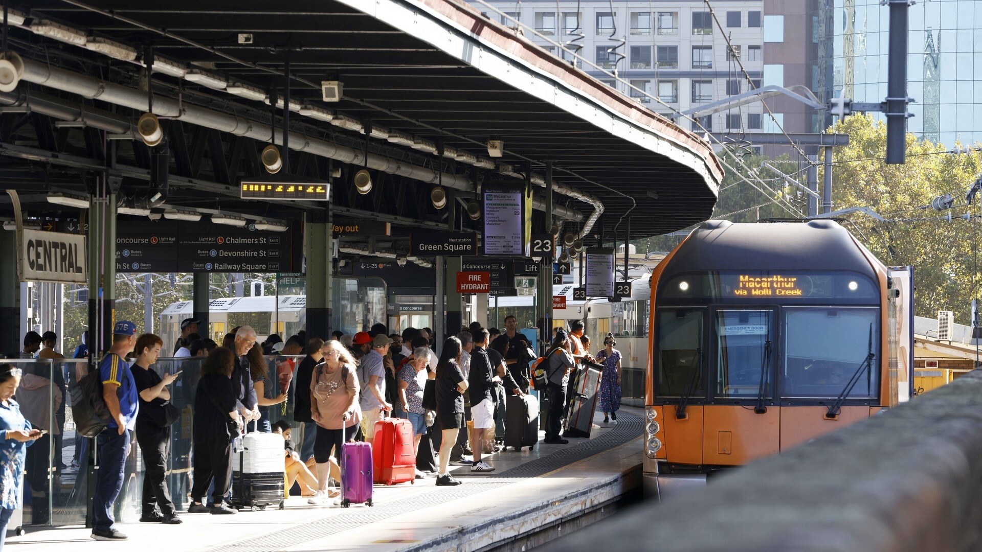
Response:
POLYGON ((357 363, 340 342, 331 340, 322 349, 324 360, 310 378, 310 417, 317 424, 313 457, 317 471, 317 493, 308 501, 320 504, 327 498, 332 471, 332 453, 341 458, 341 445, 355 439, 361 422, 358 405, 357 363))

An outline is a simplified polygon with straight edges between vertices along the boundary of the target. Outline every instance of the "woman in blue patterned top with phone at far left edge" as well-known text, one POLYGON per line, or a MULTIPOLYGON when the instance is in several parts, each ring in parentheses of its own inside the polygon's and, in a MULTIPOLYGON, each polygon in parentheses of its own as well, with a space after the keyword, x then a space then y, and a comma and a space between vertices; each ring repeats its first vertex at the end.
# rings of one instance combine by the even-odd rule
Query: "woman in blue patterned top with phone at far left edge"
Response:
POLYGON ((21 385, 21 369, 11 364, 0 364, 0 550, 7 537, 7 524, 14 511, 21 508, 21 477, 27 447, 43 432, 31 429, 30 422, 21 414, 21 407, 14 400, 14 393, 21 385))

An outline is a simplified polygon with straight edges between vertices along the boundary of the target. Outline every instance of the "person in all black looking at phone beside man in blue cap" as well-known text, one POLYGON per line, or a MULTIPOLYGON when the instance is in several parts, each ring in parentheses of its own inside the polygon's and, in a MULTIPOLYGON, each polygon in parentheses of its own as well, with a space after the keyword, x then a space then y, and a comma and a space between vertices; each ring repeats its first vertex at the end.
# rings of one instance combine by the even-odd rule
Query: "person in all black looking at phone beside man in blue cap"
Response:
POLYGON ((163 340, 153 334, 136 338, 136 361, 133 379, 139 393, 139 414, 136 414, 136 443, 143 452, 143 515, 139 521, 158 524, 180 524, 167 489, 167 458, 171 456, 171 426, 167 423, 166 409, 171 392, 167 386, 181 375, 157 375, 150 365, 160 357, 163 340))

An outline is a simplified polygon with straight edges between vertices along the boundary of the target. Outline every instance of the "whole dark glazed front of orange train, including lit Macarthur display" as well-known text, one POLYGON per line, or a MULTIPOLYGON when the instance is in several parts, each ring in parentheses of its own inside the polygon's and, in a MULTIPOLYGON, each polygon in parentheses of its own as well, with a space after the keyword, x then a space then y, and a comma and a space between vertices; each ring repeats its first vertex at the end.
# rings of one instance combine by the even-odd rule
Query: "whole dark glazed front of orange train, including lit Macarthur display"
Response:
POLYGON ((688 273, 666 278, 657 293, 657 396, 812 402, 878 394, 880 296, 865 275, 688 273))

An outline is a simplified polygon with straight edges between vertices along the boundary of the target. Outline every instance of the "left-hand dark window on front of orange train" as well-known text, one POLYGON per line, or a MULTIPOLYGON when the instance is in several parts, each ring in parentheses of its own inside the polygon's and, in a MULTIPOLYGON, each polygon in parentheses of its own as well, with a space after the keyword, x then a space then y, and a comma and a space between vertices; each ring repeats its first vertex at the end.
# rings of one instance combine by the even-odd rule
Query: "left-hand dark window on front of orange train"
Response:
POLYGON ((658 309, 658 394, 689 397, 702 387, 704 308, 658 309))

